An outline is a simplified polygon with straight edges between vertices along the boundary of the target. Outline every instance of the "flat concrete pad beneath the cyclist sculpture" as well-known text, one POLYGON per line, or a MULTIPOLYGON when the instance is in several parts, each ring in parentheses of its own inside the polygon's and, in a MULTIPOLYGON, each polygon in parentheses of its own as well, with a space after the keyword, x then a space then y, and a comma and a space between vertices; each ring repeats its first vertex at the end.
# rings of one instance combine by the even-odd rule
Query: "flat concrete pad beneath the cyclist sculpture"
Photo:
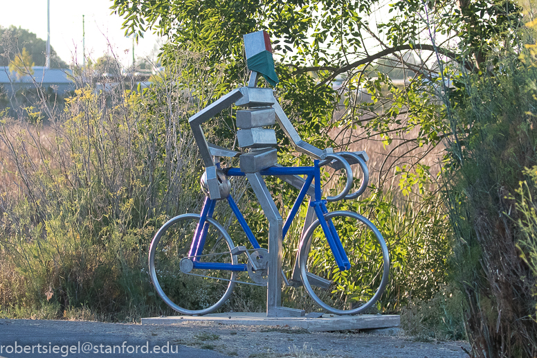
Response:
POLYGON ((229 312, 207 314, 206 316, 168 316, 142 319, 143 325, 173 325, 185 321, 209 321, 229 325, 279 325, 289 328, 304 328, 310 332, 330 332, 339 330, 371 330, 398 327, 398 314, 360 314, 338 316, 323 314, 319 318, 309 317, 267 317, 266 313, 229 312))

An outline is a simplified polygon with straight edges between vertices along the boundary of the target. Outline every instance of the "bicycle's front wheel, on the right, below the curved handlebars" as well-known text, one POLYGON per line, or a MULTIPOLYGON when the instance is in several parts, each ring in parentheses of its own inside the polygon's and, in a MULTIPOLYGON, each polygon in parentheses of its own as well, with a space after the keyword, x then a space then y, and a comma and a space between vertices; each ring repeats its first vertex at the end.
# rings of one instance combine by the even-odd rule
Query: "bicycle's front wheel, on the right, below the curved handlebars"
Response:
POLYGON ((382 295, 390 274, 388 247, 378 229, 362 215, 334 211, 324 215, 338 233, 351 268, 336 264, 320 221, 309 226, 300 242, 300 277, 309 296, 322 310, 333 314, 358 314, 382 295), (316 283, 324 282, 324 285, 316 283))

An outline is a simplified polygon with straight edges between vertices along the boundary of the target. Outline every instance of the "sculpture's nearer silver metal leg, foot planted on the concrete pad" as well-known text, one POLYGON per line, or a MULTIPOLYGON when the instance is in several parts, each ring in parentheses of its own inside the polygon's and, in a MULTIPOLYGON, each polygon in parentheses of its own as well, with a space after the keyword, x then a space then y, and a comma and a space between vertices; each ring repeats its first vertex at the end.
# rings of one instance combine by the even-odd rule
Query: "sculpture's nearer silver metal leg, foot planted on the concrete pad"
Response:
POLYGON ((266 316, 304 316, 304 310, 293 310, 282 305, 282 229, 283 220, 277 211, 271 193, 260 173, 246 173, 255 196, 268 219, 268 285, 266 287, 266 316))

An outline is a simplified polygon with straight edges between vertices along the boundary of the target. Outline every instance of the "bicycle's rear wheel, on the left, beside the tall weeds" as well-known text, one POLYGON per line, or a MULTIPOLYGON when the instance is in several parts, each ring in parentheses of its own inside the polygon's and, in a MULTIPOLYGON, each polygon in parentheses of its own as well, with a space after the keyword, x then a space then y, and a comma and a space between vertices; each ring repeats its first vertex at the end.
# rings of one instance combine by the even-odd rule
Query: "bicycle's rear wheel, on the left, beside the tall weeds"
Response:
MULTIPOLYGON (((149 248, 149 275, 158 296, 181 314, 214 312, 229 298, 236 273, 226 270, 192 268, 188 253, 199 223, 199 215, 183 214, 166 222, 149 248)), ((237 264, 230 253, 233 242, 226 230, 207 218, 206 240, 197 262, 237 264)))

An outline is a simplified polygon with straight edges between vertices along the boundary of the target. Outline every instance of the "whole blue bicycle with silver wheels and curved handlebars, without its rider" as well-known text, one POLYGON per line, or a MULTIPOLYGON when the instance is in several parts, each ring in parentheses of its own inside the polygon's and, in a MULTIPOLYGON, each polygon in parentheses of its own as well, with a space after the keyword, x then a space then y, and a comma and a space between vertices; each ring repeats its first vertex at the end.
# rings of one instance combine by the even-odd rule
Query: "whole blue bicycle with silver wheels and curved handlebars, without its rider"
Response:
MULTIPOLYGON (((374 305, 388 283, 388 247, 367 218, 351 211, 327 209, 327 201, 352 199, 365 190, 365 161, 354 153, 344 152, 329 154, 324 161, 314 161, 311 167, 275 166, 261 174, 285 178, 297 187, 297 182, 301 184, 284 222, 284 239, 307 195, 313 208, 305 220, 293 274, 287 278, 282 272, 284 283, 303 285, 321 310, 333 314, 358 314, 374 305), (347 159, 354 159, 363 171, 361 186, 353 194, 348 194, 353 182, 347 159), (322 199, 320 183, 320 168, 324 165, 347 172, 345 189, 327 199, 322 199)), ((218 170, 224 188, 230 188, 228 177, 240 176, 244 173, 238 168, 218 170)), ((268 251, 260 247, 229 190, 224 197, 250 248, 235 246, 232 235, 213 218, 217 201, 208 196, 203 177, 201 182, 207 195, 201 214, 183 214, 166 222, 149 249, 149 274, 156 292, 173 310, 189 315, 214 312, 230 298, 235 284, 266 286, 267 277, 268 251)), ((237 231, 233 237, 237 237, 237 231)))

